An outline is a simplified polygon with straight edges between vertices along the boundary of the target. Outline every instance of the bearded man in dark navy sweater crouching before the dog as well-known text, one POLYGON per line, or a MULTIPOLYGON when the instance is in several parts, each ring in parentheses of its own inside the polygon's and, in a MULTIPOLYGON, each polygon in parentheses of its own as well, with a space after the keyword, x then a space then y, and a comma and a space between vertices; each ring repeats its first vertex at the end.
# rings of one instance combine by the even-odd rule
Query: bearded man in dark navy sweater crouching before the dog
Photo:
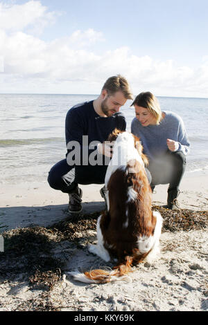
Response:
MULTIPOLYGON (((130 86, 121 75, 110 77, 101 94, 90 102, 73 106, 67 113, 65 136, 66 159, 49 171, 49 185, 69 194, 69 212, 82 210, 82 190, 78 184, 103 184, 107 165, 112 156, 112 145, 107 137, 117 128, 125 131, 121 106, 130 99, 130 86)), ((104 188, 101 195, 105 197, 104 188)))

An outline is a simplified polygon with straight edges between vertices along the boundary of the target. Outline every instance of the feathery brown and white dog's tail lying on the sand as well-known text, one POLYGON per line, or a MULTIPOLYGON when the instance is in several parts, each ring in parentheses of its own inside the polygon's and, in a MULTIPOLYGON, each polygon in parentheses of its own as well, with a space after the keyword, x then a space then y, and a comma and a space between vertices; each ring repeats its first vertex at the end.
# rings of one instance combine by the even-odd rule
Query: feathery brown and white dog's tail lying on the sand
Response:
POLYGON ((133 257, 126 256, 125 261, 117 266, 114 266, 112 270, 91 270, 90 272, 68 272, 76 281, 85 282, 88 284, 106 284, 112 281, 128 281, 131 279, 128 277, 128 273, 132 272, 131 266, 133 257))

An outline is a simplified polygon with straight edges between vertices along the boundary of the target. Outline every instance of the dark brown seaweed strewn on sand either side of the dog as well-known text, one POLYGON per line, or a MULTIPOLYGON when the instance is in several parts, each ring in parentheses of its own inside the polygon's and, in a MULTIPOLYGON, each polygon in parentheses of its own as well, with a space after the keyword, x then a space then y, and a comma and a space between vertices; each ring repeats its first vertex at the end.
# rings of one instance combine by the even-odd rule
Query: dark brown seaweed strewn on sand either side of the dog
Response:
MULTIPOLYGON (((200 230, 207 228, 208 211, 171 211, 154 206, 164 219, 162 232, 200 230)), ((52 227, 17 228, 3 232, 5 251, 0 253, 0 283, 26 277, 32 288, 51 290, 60 281, 64 259, 53 254, 53 248, 69 241, 76 248, 81 238, 96 231, 96 221, 101 212, 80 215, 76 221, 65 219, 52 227)))

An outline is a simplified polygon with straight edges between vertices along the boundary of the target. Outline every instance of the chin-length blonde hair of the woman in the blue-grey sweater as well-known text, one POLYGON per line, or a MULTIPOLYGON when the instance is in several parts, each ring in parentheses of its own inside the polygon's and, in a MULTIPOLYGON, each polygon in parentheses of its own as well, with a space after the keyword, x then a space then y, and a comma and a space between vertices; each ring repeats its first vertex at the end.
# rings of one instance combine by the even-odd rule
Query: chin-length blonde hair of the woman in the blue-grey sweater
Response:
POLYGON ((150 93, 150 91, 146 91, 146 93, 139 93, 135 100, 132 102, 131 106, 137 105, 148 109, 148 111, 155 117, 156 124, 162 120, 162 111, 159 106, 159 102, 157 97, 150 93))

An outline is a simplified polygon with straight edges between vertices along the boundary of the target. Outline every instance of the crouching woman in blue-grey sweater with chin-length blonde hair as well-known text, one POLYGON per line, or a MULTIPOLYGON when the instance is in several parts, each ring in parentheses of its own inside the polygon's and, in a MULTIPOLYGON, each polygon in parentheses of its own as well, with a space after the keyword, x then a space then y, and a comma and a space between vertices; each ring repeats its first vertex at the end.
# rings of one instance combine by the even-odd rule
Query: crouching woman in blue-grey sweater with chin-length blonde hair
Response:
POLYGON ((171 111, 161 111, 157 98, 150 92, 137 95, 133 105, 136 118, 132 120, 131 132, 140 138, 148 156, 151 189, 158 184, 169 184, 166 207, 176 210, 190 147, 184 122, 171 111))

